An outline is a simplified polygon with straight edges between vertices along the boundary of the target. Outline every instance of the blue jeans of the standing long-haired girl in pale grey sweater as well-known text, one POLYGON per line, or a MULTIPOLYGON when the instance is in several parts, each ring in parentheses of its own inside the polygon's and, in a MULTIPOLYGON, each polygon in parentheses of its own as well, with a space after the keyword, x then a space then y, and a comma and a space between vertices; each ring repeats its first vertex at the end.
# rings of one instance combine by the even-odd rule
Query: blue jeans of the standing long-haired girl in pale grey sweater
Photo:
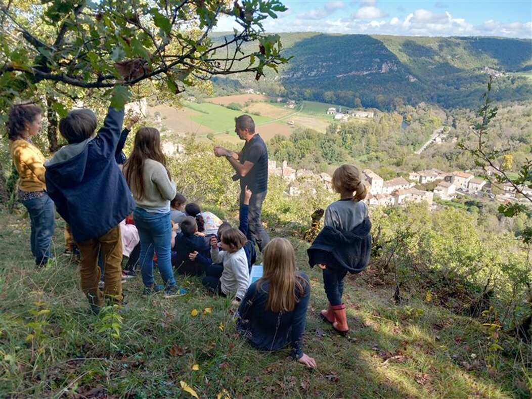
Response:
POLYGON ((172 224, 170 212, 152 213, 137 207, 133 214, 140 237, 140 275, 146 287, 154 285, 153 253, 157 253, 157 267, 167 287, 176 285, 170 255, 172 224))

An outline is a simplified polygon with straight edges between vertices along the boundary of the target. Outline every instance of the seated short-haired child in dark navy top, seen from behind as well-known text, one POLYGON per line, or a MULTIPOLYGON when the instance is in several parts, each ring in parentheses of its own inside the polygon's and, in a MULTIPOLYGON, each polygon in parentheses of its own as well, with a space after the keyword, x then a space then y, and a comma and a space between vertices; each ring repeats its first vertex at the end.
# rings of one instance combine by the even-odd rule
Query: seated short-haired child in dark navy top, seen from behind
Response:
POLYGON ((181 232, 176 237, 173 251, 176 252, 174 267, 181 275, 201 276, 211 264, 209 240, 196 235, 196 220, 187 216, 181 222, 181 232))

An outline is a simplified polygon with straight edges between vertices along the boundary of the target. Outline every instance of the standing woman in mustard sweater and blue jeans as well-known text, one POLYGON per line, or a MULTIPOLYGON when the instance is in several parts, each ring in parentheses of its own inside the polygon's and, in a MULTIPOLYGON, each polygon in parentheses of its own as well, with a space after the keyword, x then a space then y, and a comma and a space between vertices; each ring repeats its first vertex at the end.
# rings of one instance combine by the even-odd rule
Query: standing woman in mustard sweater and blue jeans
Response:
POLYGON ((31 252, 37 266, 46 265, 55 226, 54 202, 46 193, 44 155, 32 143, 41 128, 41 109, 35 104, 19 104, 9 113, 9 150, 19 172, 17 195, 30 215, 31 252))

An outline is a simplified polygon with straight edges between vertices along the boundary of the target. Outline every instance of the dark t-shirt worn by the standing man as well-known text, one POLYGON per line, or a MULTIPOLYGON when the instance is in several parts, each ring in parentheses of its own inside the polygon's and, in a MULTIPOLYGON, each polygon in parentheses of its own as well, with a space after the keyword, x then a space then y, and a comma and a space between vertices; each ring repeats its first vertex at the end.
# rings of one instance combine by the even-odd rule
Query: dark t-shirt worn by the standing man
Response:
POLYGON ((247 186, 253 194, 259 194, 268 188, 268 149, 261 136, 253 136, 242 148, 240 163, 253 162, 253 168, 240 178, 240 188, 247 186))

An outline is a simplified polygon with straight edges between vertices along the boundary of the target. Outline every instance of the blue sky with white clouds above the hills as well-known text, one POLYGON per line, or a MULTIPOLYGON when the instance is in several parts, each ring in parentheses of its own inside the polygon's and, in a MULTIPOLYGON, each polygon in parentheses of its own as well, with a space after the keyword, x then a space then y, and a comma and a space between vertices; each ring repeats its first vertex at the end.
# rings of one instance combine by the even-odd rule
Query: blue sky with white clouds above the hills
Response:
MULTIPOLYGON (((532 0, 284 0, 267 32, 532 38, 532 0)), ((217 31, 238 26, 229 18, 217 31)))

